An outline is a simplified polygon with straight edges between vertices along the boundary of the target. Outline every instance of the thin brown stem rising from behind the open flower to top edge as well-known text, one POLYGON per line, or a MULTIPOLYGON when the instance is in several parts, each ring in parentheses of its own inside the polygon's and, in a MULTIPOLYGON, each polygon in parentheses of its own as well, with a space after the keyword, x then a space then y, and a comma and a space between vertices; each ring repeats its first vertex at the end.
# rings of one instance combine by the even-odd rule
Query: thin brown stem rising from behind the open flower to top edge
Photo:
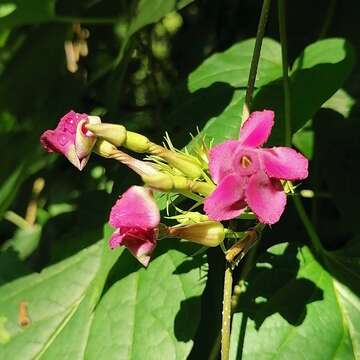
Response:
POLYGON ((257 29, 257 34, 256 34, 254 52, 253 52, 253 56, 251 59, 249 79, 248 79, 246 95, 245 95, 245 102, 244 102, 244 107, 243 107, 242 124, 246 121, 246 119, 249 117, 249 114, 250 114, 250 106, 251 106, 251 101, 252 101, 252 97, 253 97, 253 93, 254 93, 256 73, 257 73, 257 69, 258 69, 258 65, 259 65, 261 46, 262 46, 262 41, 264 38, 265 27, 266 27, 266 23, 267 23, 268 14, 269 14, 270 4, 271 4, 271 0, 264 0, 263 6, 261 9, 261 15, 260 15, 259 25, 258 25, 258 29, 257 29))

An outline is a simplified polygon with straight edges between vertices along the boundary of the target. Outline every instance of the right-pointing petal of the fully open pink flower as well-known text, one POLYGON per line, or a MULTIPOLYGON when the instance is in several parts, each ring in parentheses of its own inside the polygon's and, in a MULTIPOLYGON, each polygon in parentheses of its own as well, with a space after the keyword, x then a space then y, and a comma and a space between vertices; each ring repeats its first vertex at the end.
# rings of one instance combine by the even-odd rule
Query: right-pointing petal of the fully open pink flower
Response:
POLYGON ((261 149, 266 174, 276 179, 298 180, 308 176, 308 160, 288 147, 261 149))

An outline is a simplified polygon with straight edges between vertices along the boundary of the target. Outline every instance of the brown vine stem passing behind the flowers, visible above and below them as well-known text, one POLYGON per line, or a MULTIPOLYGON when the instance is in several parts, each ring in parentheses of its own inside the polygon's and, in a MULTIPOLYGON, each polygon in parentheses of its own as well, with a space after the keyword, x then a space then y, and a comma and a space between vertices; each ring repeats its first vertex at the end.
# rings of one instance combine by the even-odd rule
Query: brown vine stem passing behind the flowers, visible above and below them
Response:
MULTIPOLYGON (((249 109, 253 98, 256 74, 260 60, 261 46, 264 38, 270 4, 271 4, 271 0, 263 1, 259 24, 256 33, 254 51, 251 58, 250 72, 249 72, 248 84, 245 94, 245 102, 243 106, 241 126, 244 124, 244 122, 246 121, 246 119, 249 117, 250 114, 249 109)), ((252 263, 255 260, 255 254, 251 256, 250 254, 253 251, 256 251, 256 247, 255 249, 250 250, 250 253, 248 254, 246 259, 246 263, 248 262, 248 259, 250 259, 251 264, 249 263, 246 265, 245 263, 244 266, 252 267, 252 263)), ((224 275, 223 318, 222 318, 222 328, 221 328, 221 359, 222 360, 228 360, 230 353, 232 285, 233 285, 232 269, 230 267, 230 264, 226 263, 225 275, 224 275)))

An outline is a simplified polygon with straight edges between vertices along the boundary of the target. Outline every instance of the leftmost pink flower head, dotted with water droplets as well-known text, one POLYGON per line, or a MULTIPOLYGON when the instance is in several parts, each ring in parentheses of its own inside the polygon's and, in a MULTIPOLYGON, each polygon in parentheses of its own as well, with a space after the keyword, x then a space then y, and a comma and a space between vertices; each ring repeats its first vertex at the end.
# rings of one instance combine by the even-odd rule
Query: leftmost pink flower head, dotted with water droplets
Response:
POLYGON ((60 119, 55 130, 46 130, 41 135, 41 145, 48 152, 65 155, 73 165, 82 170, 96 141, 96 137, 85 128, 85 124, 100 122, 97 116, 70 111, 60 119))

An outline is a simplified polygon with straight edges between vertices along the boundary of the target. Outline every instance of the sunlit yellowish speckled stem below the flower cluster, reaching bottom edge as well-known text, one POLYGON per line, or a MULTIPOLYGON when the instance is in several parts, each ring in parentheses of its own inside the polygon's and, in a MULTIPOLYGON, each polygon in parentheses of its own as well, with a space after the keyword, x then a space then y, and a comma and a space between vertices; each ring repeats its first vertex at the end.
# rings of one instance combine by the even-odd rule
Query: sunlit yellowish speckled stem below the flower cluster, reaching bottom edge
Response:
POLYGON ((224 276, 223 317, 221 327, 221 360, 229 359, 231 328, 232 269, 226 263, 224 276))

